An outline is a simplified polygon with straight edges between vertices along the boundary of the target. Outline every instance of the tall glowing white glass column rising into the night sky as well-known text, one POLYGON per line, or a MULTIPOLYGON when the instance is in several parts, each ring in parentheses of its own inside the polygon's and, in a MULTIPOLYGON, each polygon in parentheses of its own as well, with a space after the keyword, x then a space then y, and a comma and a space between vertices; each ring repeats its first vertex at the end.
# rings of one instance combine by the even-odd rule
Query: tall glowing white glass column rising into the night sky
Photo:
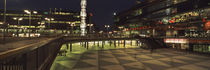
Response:
POLYGON ((81 0, 81 11, 80 11, 80 16, 81 16, 81 24, 80 24, 80 29, 81 29, 81 36, 85 36, 86 33, 86 6, 87 6, 87 1, 86 0, 81 0))

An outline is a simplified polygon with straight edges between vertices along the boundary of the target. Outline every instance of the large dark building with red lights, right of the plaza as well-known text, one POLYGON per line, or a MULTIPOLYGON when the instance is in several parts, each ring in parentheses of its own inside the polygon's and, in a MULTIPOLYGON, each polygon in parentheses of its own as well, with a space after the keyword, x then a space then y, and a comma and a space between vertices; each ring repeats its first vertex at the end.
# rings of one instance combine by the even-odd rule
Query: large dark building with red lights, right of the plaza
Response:
POLYGON ((200 40, 210 37, 209 12, 210 0, 145 0, 117 13, 114 21, 124 35, 164 37, 171 47, 209 50, 210 43, 200 40))

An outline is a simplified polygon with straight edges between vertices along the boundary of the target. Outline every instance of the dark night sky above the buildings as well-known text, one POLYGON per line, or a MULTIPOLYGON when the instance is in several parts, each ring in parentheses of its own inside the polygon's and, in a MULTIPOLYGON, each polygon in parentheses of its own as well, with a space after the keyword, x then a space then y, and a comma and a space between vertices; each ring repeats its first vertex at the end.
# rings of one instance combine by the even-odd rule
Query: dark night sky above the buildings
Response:
MULTIPOLYGON (((0 7, 3 7, 0 1, 0 7)), ((113 13, 128 9, 135 0, 87 0, 88 12, 93 13, 93 23, 103 26, 113 23, 113 13)), ((7 0, 8 9, 69 8, 80 11, 80 0, 7 0)))

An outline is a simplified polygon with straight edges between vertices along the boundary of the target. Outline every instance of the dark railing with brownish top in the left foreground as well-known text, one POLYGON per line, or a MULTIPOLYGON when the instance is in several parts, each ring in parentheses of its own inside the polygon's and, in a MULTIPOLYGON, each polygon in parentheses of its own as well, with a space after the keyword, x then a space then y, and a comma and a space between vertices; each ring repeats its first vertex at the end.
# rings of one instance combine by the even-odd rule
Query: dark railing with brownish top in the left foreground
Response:
POLYGON ((61 36, 0 53, 0 70, 49 70, 62 43, 61 36))

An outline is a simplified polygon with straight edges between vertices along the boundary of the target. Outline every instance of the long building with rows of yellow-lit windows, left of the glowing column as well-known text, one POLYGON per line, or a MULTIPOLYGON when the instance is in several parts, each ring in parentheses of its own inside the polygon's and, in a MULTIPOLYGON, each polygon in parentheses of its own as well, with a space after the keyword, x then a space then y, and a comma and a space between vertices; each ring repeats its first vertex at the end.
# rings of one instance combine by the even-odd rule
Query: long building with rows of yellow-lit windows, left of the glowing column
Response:
MULTIPOLYGON (((7 28, 9 33, 15 33, 15 29, 20 32, 51 32, 51 33, 80 33, 80 13, 68 9, 36 10, 37 14, 31 15, 31 26, 29 26, 29 15, 23 10, 7 11, 7 28), (13 18, 23 18, 21 21, 13 18), (49 20, 50 19, 50 20, 49 20), (52 20, 53 19, 53 20, 52 20), (18 25, 19 23, 19 25, 18 25), (72 24, 74 27, 72 28, 72 24)), ((87 16, 89 18, 89 16, 87 16)), ((89 21, 89 19, 86 19, 89 21)), ((0 25, 3 22, 3 10, 0 10, 0 25)))

